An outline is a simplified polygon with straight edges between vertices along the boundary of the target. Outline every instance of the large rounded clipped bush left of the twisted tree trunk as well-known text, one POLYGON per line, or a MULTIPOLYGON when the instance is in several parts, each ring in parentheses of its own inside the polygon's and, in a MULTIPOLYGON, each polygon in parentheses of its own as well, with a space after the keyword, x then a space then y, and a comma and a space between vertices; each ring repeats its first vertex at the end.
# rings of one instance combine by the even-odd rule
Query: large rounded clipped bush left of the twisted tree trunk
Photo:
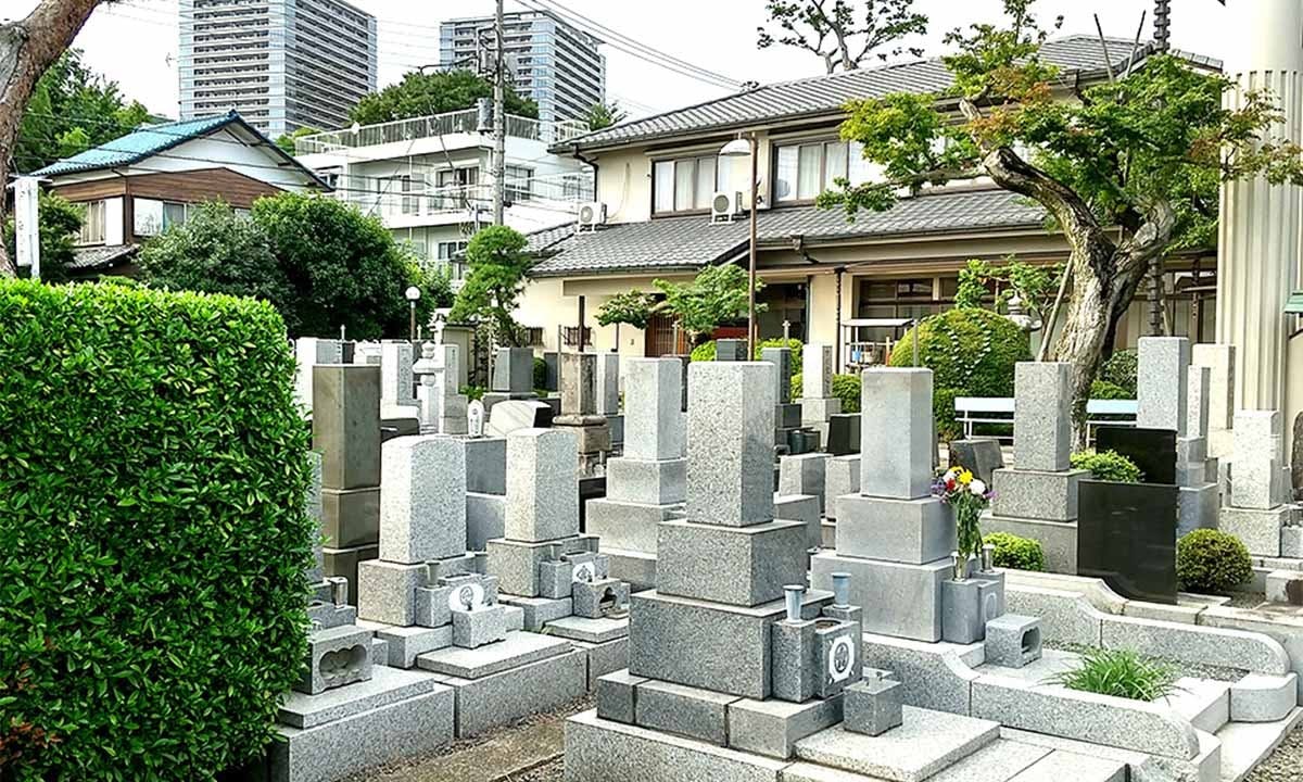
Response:
POLYGON ((1031 361, 1027 334, 1009 318, 985 309, 951 309, 911 328, 891 351, 891 366, 919 362, 933 371, 937 433, 952 439, 956 396, 1012 396, 1014 365, 1031 361))

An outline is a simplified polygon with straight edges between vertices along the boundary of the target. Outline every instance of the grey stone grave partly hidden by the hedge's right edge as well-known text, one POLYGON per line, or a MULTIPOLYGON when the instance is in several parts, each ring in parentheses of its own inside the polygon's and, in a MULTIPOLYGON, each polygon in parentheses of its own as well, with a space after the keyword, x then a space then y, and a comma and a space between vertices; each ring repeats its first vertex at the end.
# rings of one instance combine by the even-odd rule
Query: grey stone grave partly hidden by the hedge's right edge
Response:
MULTIPOLYGON (((322 460, 314 459, 308 510, 322 520, 322 460)), ((357 624, 348 581, 326 576, 318 550, 302 680, 280 706, 268 751, 272 782, 330 782, 434 752, 452 742, 453 688, 435 676, 387 667, 390 644, 357 624)))

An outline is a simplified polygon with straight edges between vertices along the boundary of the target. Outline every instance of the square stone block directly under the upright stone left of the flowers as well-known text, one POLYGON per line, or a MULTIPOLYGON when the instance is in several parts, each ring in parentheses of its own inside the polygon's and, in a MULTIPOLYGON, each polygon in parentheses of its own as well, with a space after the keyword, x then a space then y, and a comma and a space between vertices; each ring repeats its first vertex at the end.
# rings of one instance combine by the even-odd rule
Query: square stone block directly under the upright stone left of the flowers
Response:
POLYGON ((838 554, 924 564, 950 557, 954 547, 955 516, 936 497, 837 498, 838 554))

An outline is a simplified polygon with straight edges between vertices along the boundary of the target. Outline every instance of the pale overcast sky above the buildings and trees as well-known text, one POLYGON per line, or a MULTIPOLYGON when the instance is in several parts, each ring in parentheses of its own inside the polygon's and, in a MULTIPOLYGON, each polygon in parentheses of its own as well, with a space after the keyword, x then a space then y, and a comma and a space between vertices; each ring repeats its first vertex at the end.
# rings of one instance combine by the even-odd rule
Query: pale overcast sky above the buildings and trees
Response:
MULTIPOLYGON (((36 0, 3 0, 0 17, 27 13, 36 0)), ((489 14, 493 0, 353 0, 379 20, 380 83, 396 81, 407 70, 437 63, 440 20, 489 14)), ((737 81, 773 82, 816 76, 822 63, 809 52, 775 47, 756 48, 756 27, 764 22, 762 0, 566 0, 564 7, 638 42, 675 55, 737 81)), ((1063 33, 1095 33, 1098 13, 1105 33, 1135 35, 1149 0, 1041 0, 1042 20, 1063 14, 1063 33)), ((1177 47, 1225 59, 1230 52, 1227 26, 1233 10, 1216 0, 1179 0, 1173 18, 1177 47)), ((1234 3, 1231 4, 1234 5, 1234 3)), ((507 9, 519 9, 508 0, 507 9)), ((997 20, 1001 0, 916 0, 915 8, 932 18, 921 42, 926 55, 942 52, 947 30, 975 21, 997 20)), ((176 0, 126 0, 100 7, 77 38, 87 64, 121 83, 122 91, 151 111, 177 113, 177 4, 176 0)), ((1145 35, 1152 34, 1147 21, 1145 35)), ((635 115, 665 111, 724 94, 649 65, 606 47, 607 94, 635 115)))

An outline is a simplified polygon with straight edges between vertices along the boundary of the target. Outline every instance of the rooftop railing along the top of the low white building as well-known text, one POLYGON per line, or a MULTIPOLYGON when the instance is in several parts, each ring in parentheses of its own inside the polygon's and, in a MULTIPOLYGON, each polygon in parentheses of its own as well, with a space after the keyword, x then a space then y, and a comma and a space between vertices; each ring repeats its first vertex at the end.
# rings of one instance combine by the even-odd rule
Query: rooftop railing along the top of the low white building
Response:
MULTIPOLYGON (((294 139, 294 152, 298 155, 311 155, 317 152, 332 152, 343 149, 377 146, 382 143, 395 143, 413 141, 418 138, 435 138, 455 133, 478 133, 491 137, 493 126, 483 125, 482 117, 476 109, 455 111, 425 117, 410 117, 395 120, 392 123, 379 123, 375 125, 361 125, 356 129, 328 130, 326 133, 313 133, 294 139)), ((579 120, 566 120, 562 123, 541 123, 529 117, 507 117, 507 136, 524 138, 528 141, 542 141, 545 143, 559 143, 588 133, 588 125, 579 120)))

